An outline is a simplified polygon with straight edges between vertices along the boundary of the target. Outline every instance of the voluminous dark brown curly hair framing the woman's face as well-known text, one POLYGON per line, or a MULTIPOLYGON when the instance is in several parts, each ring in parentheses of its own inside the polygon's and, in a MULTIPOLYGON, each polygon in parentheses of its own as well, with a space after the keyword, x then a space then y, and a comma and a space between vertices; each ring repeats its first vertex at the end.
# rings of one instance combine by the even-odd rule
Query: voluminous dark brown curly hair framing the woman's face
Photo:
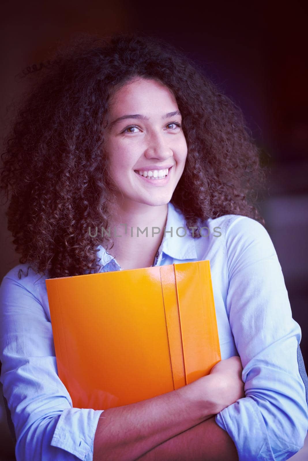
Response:
POLYGON ((6 216, 20 263, 50 278, 99 271, 101 236, 88 230, 108 229, 114 193, 103 121, 115 86, 133 77, 156 79, 177 100, 188 154, 171 201, 187 226, 225 214, 264 225, 254 206, 264 169, 242 112, 170 44, 135 34, 82 37, 24 74, 37 78, 6 139, 0 177, 6 199, 12 194, 6 216))

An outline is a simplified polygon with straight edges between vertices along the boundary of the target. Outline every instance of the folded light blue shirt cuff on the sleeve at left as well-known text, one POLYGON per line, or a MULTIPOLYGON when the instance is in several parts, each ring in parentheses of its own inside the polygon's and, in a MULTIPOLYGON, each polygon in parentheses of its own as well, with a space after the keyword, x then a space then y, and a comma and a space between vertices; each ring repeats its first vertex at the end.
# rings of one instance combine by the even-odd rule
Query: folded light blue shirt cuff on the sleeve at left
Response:
POLYGON ((51 445, 62 448, 83 461, 92 461, 95 431, 103 411, 65 408, 54 430, 51 445))

